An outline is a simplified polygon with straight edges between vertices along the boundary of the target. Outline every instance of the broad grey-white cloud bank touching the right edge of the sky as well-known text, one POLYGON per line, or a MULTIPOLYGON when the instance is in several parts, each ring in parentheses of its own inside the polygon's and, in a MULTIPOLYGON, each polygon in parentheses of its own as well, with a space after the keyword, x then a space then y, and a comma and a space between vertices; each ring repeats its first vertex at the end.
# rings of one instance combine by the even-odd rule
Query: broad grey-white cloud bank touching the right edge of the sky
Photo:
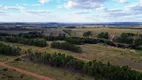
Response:
POLYGON ((118 18, 118 17, 136 16, 136 15, 142 15, 142 4, 141 2, 134 3, 124 7, 123 9, 117 9, 117 8, 109 9, 106 7, 100 7, 97 8, 96 10, 100 11, 100 13, 105 13, 104 17, 118 18))

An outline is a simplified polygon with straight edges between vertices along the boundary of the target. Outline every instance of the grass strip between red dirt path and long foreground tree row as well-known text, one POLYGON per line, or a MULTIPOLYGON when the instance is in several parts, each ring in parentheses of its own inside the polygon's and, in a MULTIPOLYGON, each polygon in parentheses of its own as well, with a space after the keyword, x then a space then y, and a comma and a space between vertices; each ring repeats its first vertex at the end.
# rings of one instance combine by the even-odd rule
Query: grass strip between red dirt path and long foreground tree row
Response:
POLYGON ((15 66, 21 69, 25 69, 40 75, 52 77, 55 80, 95 80, 93 77, 89 77, 76 72, 63 70, 60 68, 44 66, 27 61, 13 61, 8 63, 11 66, 15 66))

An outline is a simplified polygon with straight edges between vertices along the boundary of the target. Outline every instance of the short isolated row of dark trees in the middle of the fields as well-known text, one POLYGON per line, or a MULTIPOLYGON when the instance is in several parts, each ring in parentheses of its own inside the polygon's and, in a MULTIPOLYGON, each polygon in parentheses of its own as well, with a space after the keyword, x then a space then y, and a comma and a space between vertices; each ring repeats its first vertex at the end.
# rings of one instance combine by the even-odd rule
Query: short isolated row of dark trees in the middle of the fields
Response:
POLYGON ((79 52, 79 53, 82 52, 82 50, 79 46, 76 46, 76 45, 68 43, 68 42, 52 42, 51 47, 58 48, 58 49, 65 49, 65 50, 79 52))

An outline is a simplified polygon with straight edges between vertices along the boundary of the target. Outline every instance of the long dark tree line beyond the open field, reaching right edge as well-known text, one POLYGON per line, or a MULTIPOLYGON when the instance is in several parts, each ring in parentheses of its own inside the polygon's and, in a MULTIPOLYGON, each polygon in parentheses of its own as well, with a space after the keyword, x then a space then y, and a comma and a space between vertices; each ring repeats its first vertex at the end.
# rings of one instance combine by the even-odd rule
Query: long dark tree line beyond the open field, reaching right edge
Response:
POLYGON ((127 37, 118 37, 114 38, 113 41, 103 38, 80 38, 80 37, 68 37, 66 41, 72 44, 82 45, 82 44, 97 44, 102 43, 109 46, 120 47, 120 48, 132 48, 142 50, 142 38, 136 37, 134 38, 127 38, 127 37), (119 43, 115 43, 119 42, 119 43), (127 44, 123 44, 127 43, 127 44), (129 43, 129 44, 128 44, 129 43))

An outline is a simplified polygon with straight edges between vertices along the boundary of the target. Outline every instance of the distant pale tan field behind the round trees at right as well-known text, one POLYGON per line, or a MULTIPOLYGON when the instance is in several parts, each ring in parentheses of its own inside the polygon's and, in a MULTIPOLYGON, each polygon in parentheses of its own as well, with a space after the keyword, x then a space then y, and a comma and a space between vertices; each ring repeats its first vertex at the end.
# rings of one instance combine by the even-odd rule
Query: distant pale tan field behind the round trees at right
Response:
POLYGON ((142 34, 141 30, 135 30, 135 29, 116 29, 116 28, 75 28, 71 29, 72 30, 72 35, 73 36, 82 36, 82 34, 86 31, 92 31, 93 35, 95 36, 96 34, 100 32, 109 32, 110 34, 114 35, 120 35, 121 33, 139 33, 142 34))

